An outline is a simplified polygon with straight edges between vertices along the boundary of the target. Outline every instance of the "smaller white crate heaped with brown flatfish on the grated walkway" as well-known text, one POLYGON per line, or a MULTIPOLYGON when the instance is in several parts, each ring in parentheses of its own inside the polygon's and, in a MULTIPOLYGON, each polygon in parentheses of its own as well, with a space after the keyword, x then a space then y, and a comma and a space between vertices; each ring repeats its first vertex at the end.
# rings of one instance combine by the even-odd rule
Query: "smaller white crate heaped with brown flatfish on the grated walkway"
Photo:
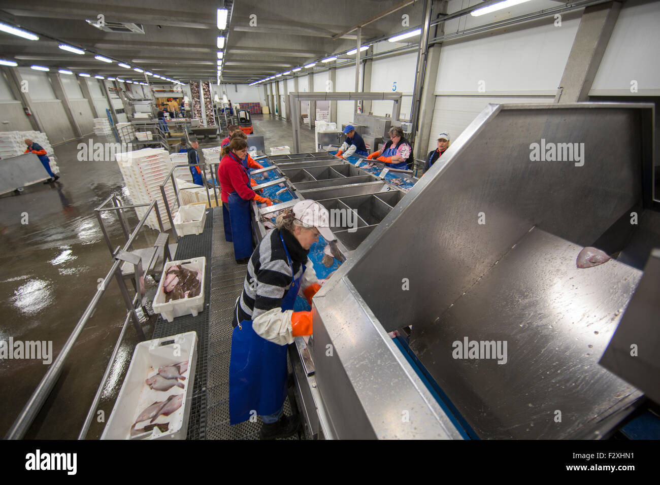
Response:
POLYGON ((205 257, 166 263, 154 298, 154 312, 167 321, 183 315, 196 317, 204 309, 205 275, 205 257))

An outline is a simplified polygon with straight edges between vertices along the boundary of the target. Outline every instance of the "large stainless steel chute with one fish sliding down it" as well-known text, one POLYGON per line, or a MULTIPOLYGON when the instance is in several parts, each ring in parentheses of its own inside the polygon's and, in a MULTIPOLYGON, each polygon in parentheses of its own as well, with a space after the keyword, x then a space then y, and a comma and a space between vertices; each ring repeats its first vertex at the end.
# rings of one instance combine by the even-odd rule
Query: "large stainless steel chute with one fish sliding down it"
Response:
POLYGON ((660 245, 652 224, 622 224, 632 210, 652 218, 653 119, 646 104, 484 109, 314 298, 324 433, 566 438, 616 426, 642 393, 597 362, 642 275, 630 262, 660 245), (578 269, 597 242, 628 257, 578 269), (444 399, 387 336, 407 325, 444 399), (506 364, 456 358, 466 337, 506 342, 506 364))

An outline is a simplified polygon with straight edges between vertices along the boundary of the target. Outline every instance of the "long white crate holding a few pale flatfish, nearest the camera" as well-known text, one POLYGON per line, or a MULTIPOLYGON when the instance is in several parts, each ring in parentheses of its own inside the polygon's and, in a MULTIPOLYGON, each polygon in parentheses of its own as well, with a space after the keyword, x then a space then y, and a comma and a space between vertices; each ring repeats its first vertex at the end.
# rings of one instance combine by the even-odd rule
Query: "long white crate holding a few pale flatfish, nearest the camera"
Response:
POLYGON ((137 344, 101 439, 185 439, 196 365, 195 332, 137 344))

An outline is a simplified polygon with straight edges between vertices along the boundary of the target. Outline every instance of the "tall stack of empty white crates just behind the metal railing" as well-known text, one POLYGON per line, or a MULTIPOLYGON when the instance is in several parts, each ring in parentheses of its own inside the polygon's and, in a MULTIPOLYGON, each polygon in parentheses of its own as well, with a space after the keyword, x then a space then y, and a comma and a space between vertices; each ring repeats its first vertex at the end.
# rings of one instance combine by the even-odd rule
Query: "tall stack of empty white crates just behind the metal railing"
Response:
MULTIPOLYGON (((152 201, 157 201, 163 226, 166 230, 169 229, 170 221, 167 218, 165 203, 160 193, 160 185, 172 170, 170 154, 162 148, 142 148, 133 152, 117 153, 115 158, 133 203, 150 204, 152 201)), ((164 188, 170 210, 172 210, 176 200, 174 187, 171 183, 167 183, 164 188)), ((135 212, 139 218, 142 218, 147 209, 147 207, 136 207, 135 212)), ((145 224, 158 230, 155 210, 149 214, 145 224)))

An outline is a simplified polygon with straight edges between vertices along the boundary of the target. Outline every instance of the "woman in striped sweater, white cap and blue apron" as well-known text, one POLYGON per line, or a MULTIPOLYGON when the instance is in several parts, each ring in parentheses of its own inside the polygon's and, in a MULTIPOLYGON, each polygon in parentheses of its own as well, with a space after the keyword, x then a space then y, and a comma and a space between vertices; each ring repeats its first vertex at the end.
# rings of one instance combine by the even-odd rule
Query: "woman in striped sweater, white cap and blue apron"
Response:
POLYGON ((321 288, 308 253, 319 233, 334 240, 329 214, 317 202, 298 202, 277 218, 248 262, 234 308, 230 360, 230 422, 259 414, 264 439, 291 436, 300 423, 282 416, 286 398, 286 344, 312 335, 312 312, 293 311, 300 293, 310 304, 321 288))

